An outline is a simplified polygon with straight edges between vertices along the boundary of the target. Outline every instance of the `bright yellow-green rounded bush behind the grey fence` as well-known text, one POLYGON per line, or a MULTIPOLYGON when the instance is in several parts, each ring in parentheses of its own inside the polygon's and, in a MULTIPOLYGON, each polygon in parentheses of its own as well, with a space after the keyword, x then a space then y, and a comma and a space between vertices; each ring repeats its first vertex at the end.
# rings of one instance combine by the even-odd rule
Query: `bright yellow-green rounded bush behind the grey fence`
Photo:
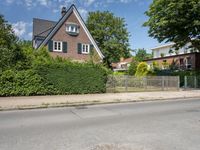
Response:
POLYGON ((148 70, 147 63, 146 62, 141 62, 137 66, 137 70, 136 70, 135 76, 143 77, 143 76, 146 76, 148 74, 148 72, 149 72, 149 70, 148 70))

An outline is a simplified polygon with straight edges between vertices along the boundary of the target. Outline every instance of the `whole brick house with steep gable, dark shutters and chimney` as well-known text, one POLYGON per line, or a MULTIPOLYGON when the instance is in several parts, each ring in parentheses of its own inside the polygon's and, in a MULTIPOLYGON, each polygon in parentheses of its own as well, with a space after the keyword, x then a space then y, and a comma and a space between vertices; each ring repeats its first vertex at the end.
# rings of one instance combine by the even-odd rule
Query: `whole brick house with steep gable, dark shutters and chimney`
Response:
POLYGON ((75 5, 63 7, 58 22, 34 18, 32 43, 35 49, 46 47, 52 57, 80 62, 91 59, 91 54, 98 62, 104 58, 75 5))

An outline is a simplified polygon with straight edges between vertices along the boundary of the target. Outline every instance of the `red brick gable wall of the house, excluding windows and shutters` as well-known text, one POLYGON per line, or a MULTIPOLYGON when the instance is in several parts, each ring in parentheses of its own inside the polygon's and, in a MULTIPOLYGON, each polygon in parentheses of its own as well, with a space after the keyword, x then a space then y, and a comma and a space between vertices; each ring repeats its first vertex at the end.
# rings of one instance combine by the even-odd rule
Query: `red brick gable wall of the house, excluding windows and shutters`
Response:
POLYGON ((63 58, 70 58, 72 60, 78 60, 78 61, 85 61, 85 60, 90 59, 89 54, 78 54, 78 51, 77 51, 78 43, 83 43, 83 44, 92 44, 92 43, 89 40, 83 27, 81 26, 81 24, 79 23, 78 19, 76 18, 75 14, 73 12, 69 15, 67 20, 63 23, 63 25, 60 27, 60 29, 56 32, 56 34, 53 36, 52 40, 67 42, 67 53, 50 52, 50 55, 52 57, 60 56, 63 58), (67 22, 73 22, 80 26, 78 36, 71 36, 66 32, 66 23, 67 22))

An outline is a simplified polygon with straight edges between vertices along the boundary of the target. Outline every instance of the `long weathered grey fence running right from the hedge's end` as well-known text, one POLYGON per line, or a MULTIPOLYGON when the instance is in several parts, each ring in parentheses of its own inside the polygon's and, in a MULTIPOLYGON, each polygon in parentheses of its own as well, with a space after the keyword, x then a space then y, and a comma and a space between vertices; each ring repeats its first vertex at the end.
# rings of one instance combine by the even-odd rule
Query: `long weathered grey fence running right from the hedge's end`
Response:
POLYGON ((108 77, 107 92, 136 92, 178 90, 178 76, 147 76, 134 77, 127 75, 112 75, 108 77))

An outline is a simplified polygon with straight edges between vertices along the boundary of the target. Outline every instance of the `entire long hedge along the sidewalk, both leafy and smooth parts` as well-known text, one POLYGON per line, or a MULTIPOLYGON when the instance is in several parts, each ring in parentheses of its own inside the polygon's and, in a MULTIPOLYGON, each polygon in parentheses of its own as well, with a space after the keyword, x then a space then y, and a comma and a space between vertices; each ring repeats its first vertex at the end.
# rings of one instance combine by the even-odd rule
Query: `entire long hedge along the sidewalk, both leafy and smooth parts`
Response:
POLYGON ((87 94, 106 91, 107 72, 92 64, 49 63, 0 74, 0 96, 87 94))

